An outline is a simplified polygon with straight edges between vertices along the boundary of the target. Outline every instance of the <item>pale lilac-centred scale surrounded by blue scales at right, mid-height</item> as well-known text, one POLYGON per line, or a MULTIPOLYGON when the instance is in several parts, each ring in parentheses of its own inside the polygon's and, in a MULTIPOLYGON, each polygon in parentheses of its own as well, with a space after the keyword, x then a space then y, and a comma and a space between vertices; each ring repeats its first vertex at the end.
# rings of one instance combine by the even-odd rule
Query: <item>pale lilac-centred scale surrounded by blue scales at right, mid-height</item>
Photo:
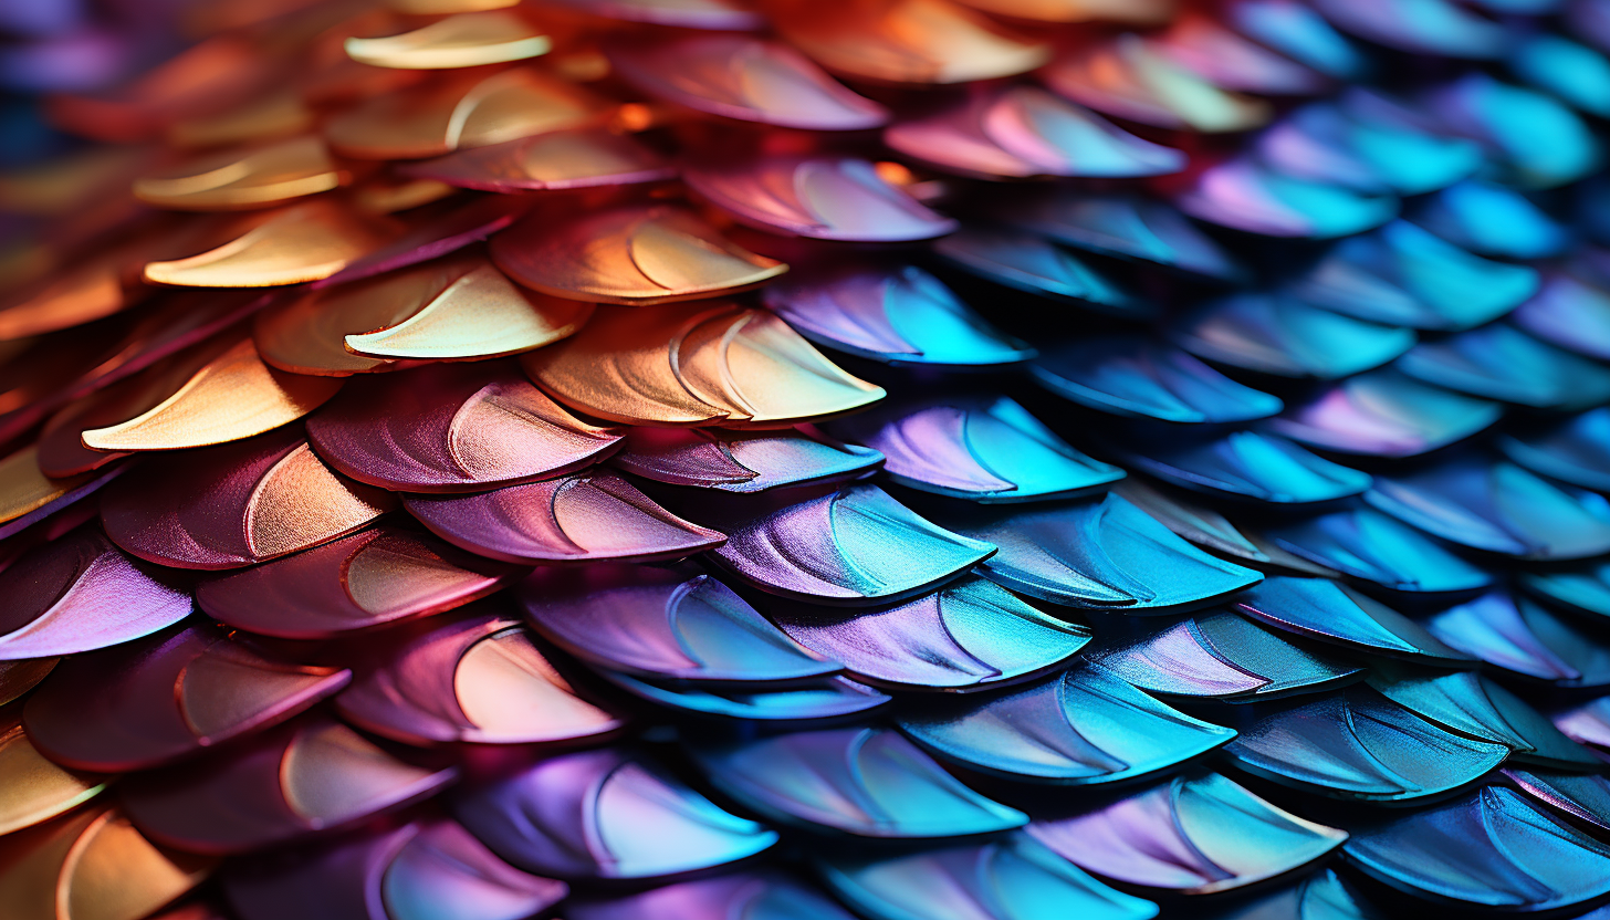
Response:
POLYGON ((1504 406, 1386 367, 1343 380, 1270 419, 1269 429, 1323 451, 1407 458, 1489 427, 1504 406))

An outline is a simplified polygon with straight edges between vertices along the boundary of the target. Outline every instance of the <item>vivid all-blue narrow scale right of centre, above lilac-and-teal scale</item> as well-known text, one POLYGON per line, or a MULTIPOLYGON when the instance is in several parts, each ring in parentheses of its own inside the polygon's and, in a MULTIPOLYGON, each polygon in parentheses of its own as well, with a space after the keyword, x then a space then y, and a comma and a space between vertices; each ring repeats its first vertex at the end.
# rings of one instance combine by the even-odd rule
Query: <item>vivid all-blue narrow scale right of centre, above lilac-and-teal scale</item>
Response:
POLYGON ((1282 524, 1264 533, 1304 559, 1391 591, 1459 595, 1492 583, 1489 574, 1418 530, 1365 508, 1282 524))

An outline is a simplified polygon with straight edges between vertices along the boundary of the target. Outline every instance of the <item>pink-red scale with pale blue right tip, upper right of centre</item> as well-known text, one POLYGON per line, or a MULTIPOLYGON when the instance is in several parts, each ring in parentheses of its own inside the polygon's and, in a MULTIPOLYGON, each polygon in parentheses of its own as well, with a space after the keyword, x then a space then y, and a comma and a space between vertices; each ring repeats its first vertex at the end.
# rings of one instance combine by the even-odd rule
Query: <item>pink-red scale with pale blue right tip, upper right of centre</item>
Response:
POLYGON ((985 179, 1166 176, 1185 168, 1180 151, 1027 85, 972 93, 900 121, 884 131, 884 143, 947 172, 985 179))

